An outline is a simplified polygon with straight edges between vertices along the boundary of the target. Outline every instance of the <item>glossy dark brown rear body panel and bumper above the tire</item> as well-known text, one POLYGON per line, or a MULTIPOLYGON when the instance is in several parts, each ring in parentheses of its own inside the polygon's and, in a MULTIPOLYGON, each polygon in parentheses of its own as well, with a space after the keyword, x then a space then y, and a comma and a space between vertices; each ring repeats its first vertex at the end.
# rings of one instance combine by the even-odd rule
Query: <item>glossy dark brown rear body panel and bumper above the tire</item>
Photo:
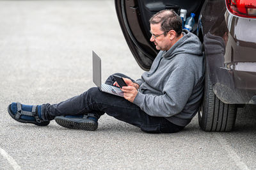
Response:
POLYGON ((226 104, 256 104, 256 20, 228 12, 225 1, 205 1, 198 29, 213 91, 226 104))

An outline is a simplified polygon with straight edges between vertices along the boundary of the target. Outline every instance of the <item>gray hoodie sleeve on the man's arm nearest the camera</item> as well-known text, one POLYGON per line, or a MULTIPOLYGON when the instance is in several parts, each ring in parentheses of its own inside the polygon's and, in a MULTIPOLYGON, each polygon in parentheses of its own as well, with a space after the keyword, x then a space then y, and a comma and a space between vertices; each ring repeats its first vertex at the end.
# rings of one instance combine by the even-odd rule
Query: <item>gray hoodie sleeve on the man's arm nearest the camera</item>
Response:
POLYGON ((163 95, 138 93, 134 104, 150 116, 171 117, 184 109, 195 83, 195 75, 188 68, 178 66, 164 82, 163 95))

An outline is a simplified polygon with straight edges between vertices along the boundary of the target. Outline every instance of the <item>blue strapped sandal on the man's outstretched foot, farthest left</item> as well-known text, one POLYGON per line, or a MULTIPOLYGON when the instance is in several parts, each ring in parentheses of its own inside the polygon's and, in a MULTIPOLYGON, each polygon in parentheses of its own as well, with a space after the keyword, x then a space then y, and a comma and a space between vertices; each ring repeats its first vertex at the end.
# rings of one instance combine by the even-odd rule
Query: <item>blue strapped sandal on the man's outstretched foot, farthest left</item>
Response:
POLYGON ((10 114, 10 116, 13 118, 13 120, 19 121, 20 123, 32 123, 38 126, 47 126, 49 125, 50 121, 44 121, 44 120, 40 120, 40 118, 38 117, 38 113, 36 112, 36 105, 33 105, 32 107, 32 111, 22 111, 21 109, 21 104, 19 102, 16 103, 17 104, 17 112, 14 114, 12 112, 12 108, 10 104, 8 106, 8 113, 10 114), (21 116, 32 116, 35 118, 35 120, 22 120, 21 116))

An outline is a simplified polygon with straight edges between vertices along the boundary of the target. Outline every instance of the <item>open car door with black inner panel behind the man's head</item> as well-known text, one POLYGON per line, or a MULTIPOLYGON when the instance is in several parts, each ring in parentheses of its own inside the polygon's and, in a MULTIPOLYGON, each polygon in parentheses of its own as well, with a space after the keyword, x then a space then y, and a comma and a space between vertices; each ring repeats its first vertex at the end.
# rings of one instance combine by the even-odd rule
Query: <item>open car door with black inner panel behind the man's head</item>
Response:
POLYGON ((203 2, 204 0, 115 0, 116 14, 125 40, 143 70, 150 69, 158 52, 154 43, 150 42, 150 17, 165 9, 173 9, 179 15, 180 9, 185 9, 187 17, 192 12, 196 13, 197 22, 203 2))

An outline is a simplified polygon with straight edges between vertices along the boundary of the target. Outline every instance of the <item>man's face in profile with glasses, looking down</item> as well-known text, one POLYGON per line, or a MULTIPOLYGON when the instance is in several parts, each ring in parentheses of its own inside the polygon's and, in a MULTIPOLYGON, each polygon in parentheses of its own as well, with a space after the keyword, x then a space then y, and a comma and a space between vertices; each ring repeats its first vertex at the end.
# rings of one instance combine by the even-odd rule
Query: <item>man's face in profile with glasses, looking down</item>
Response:
POLYGON ((172 47, 172 41, 170 40, 170 36, 164 36, 164 31, 161 30, 161 24, 150 24, 150 31, 152 36, 150 38, 150 42, 154 42, 157 50, 169 50, 172 47), (154 38, 154 36, 156 38, 154 38))

